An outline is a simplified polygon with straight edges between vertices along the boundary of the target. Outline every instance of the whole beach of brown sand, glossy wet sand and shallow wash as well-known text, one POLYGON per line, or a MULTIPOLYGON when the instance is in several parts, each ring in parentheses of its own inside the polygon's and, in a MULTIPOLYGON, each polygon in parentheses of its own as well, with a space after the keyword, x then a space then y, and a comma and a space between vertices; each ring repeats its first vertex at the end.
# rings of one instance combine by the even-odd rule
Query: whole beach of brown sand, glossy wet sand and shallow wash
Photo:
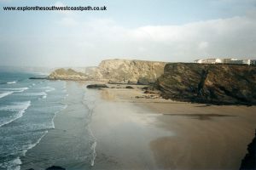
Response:
POLYGON ((55 129, 21 169, 238 169, 253 139, 255 106, 146 99, 143 86, 86 89, 67 82, 55 129))

